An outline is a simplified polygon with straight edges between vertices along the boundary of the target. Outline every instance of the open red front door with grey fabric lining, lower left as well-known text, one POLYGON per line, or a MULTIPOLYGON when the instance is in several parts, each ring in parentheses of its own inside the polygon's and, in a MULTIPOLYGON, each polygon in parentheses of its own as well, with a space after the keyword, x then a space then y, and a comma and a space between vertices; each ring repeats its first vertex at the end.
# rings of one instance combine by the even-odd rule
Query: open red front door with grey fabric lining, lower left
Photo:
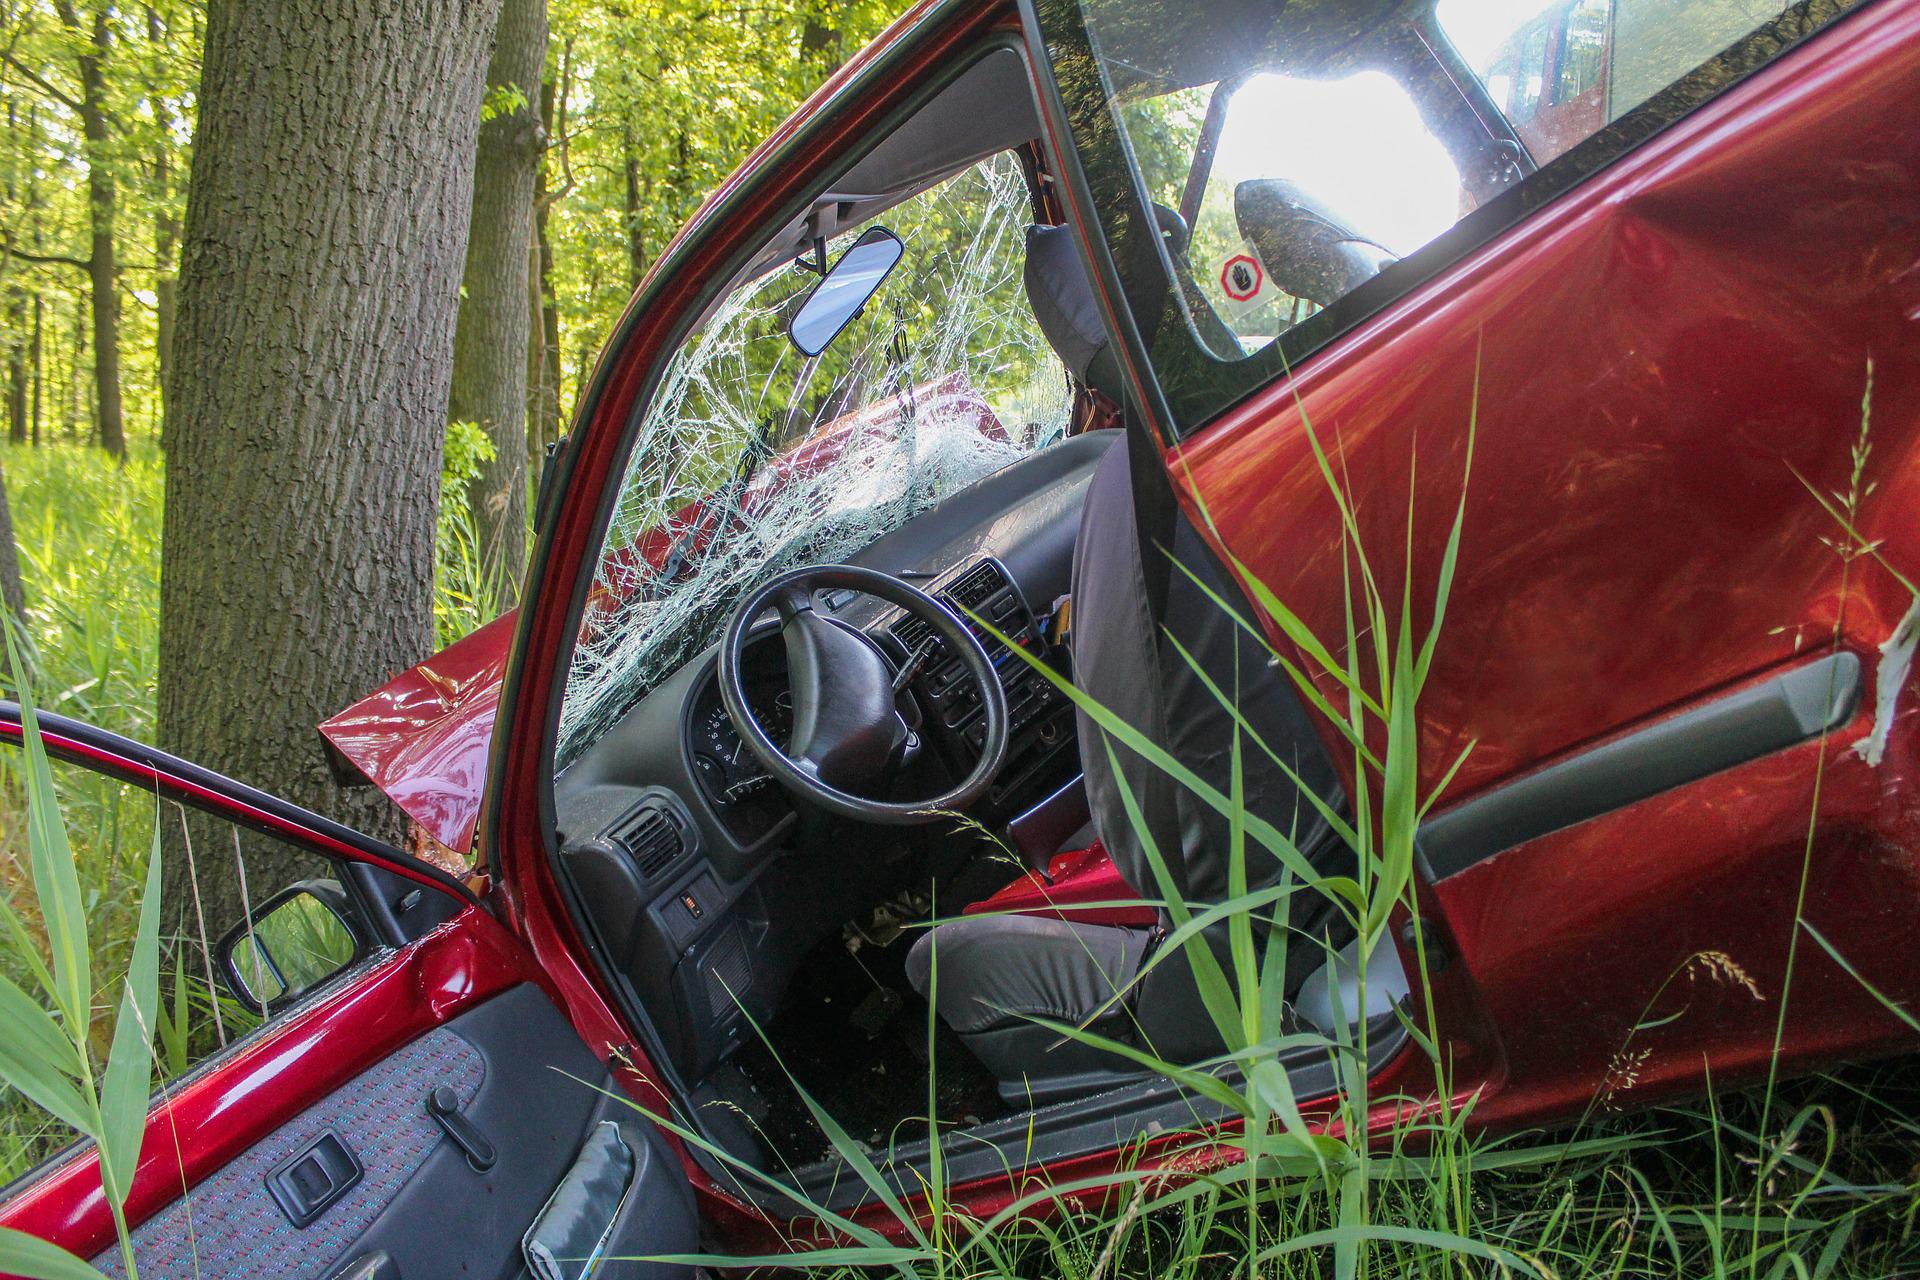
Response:
MULTIPOLYGON (((40 729, 56 762, 131 783, 163 812, 192 806, 323 860, 334 879, 305 887, 351 935, 336 973, 311 992, 282 983, 263 996, 265 1025, 154 1098, 127 1203, 142 1276, 526 1274, 538 1247, 697 1245, 678 1151, 618 1098, 526 946, 465 885, 119 735, 46 714, 40 729)), ((21 739, 12 702, 0 739, 21 739)), ((255 885, 255 902, 273 889, 255 885)), ((257 936, 273 919, 269 898, 257 936)), ((0 1226, 119 1274, 90 1144, 8 1186, 0 1226)), ((676 1270, 607 1263, 599 1274, 676 1270)))

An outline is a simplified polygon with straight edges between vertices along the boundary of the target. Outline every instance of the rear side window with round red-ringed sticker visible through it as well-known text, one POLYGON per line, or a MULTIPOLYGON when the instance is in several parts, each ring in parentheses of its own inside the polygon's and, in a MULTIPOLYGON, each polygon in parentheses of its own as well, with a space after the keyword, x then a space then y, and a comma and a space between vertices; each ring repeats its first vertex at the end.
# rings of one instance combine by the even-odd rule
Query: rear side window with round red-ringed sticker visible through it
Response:
POLYGON ((1037 13, 1121 288, 1190 430, 1849 8, 1039 0, 1037 13))

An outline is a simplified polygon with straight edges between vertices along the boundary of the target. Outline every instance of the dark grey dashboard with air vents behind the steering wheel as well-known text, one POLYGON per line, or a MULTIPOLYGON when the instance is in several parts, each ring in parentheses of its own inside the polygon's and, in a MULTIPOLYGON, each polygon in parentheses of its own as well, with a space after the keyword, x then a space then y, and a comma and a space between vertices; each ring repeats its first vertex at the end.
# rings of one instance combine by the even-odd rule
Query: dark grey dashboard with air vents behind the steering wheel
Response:
MULTIPOLYGON (((1079 509, 1116 432, 1033 453, 881 535, 854 564, 889 572, 995 622, 1066 666, 1046 618, 1069 591, 1079 509)), ((920 620, 856 593, 816 597, 899 666, 927 641, 920 620)), ((964 612, 962 612, 964 618, 964 612)), ((1071 704, 975 629, 1008 695, 1008 762, 970 819, 995 829, 1079 771, 1071 704)), ((900 695, 925 750, 885 798, 931 796, 977 758, 979 691, 935 641, 900 695)), ((647 1011, 668 1061, 703 1079, 753 1021, 770 1017, 810 946, 912 881, 947 825, 866 827, 778 787, 720 700, 716 651, 660 681, 557 779, 561 881, 603 967, 647 1011)), ((776 743, 793 725, 785 645, 772 618, 743 652, 749 706, 776 743)))

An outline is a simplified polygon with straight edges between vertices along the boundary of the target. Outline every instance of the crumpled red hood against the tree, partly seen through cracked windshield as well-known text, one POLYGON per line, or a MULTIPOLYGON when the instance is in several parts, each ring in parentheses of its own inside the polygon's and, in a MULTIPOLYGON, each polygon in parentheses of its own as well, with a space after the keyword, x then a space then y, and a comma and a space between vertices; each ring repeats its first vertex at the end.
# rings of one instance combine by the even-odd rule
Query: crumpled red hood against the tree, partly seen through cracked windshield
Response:
MULTIPOLYGON (((920 386, 914 401, 943 420, 966 422, 991 439, 1008 439, 1006 428, 964 376, 920 386)), ((860 436, 891 432, 895 424, 891 401, 829 422, 772 459, 741 495, 741 507, 751 509, 791 480, 831 466, 860 436)), ((636 558, 659 568, 684 535, 699 553, 722 532, 728 514, 710 509, 710 497, 687 503, 603 566, 588 599, 588 626, 605 608, 605 595, 620 595, 643 580, 634 572, 636 558)), ((321 722, 321 735, 338 752, 336 764, 344 764, 344 771, 384 791, 426 835, 453 850, 472 846, 516 616, 516 610, 501 614, 321 722)))

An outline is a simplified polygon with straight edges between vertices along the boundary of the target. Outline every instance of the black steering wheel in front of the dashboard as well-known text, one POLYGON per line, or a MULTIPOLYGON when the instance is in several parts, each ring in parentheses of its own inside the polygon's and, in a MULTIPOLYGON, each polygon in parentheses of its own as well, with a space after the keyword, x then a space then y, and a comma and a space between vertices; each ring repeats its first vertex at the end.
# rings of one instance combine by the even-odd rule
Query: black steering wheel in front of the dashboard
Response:
POLYGON ((862 821, 937 821, 945 810, 960 810, 977 800, 1006 762, 1006 689, 979 639, 931 595, 872 568, 793 568, 743 599, 720 641, 720 700, 747 750, 787 791, 831 814, 862 821), (856 794, 906 758, 914 735, 895 706, 895 695, 906 681, 895 676, 879 647, 852 628, 822 618, 814 608, 814 593, 833 589, 872 595, 920 618, 947 641, 948 652, 958 654, 979 685, 987 737, 973 771, 952 789, 912 802, 856 794), (785 750, 753 718, 741 681, 747 633, 768 606, 780 614, 787 681, 793 689, 793 737, 785 750))

